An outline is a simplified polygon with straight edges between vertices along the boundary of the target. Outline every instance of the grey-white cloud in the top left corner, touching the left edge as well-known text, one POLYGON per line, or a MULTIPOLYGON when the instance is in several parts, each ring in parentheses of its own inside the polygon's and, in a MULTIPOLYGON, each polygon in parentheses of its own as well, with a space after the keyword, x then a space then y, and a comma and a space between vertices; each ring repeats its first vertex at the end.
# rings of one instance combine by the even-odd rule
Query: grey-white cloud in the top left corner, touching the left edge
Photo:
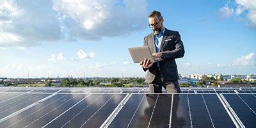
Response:
POLYGON ((60 40, 60 21, 51 6, 44 0, 0 1, 0 47, 31 47, 60 40))

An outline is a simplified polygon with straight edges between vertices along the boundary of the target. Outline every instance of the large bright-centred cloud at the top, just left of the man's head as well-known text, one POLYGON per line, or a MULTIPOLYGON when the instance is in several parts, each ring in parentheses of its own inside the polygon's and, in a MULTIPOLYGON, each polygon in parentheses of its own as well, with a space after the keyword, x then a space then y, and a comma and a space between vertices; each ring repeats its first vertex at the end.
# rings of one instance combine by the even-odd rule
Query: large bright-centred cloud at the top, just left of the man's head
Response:
POLYGON ((146 28, 145 0, 54 0, 52 3, 63 25, 72 29, 70 36, 75 38, 100 40, 102 36, 126 35, 146 28))

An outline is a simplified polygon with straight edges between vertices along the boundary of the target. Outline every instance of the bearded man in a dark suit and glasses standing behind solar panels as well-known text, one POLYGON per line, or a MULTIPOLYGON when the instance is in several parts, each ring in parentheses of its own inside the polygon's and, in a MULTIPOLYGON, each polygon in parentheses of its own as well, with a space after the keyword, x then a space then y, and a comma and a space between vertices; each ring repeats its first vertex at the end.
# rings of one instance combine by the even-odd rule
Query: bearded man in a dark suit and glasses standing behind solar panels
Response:
POLYGON ((151 63, 147 58, 140 62, 143 70, 148 70, 146 82, 150 92, 162 93, 164 87, 167 93, 180 93, 175 59, 182 58, 185 51, 179 32, 164 28, 164 19, 157 11, 148 15, 148 22, 154 33, 144 37, 143 45, 150 47, 155 60, 161 58, 161 61, 155 63, 151 63))

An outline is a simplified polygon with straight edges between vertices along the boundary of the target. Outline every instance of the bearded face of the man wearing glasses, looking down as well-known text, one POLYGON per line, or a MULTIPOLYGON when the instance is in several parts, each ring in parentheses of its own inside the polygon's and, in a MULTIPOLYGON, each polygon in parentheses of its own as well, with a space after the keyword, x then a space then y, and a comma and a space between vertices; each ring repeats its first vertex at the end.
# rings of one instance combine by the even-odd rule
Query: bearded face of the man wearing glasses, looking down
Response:
POLYGON ((159 35, 162 31, 163 19, 159 19, 156 15, 154 17, 148 17, 150 28, 154 31, 155 35, 159 35))

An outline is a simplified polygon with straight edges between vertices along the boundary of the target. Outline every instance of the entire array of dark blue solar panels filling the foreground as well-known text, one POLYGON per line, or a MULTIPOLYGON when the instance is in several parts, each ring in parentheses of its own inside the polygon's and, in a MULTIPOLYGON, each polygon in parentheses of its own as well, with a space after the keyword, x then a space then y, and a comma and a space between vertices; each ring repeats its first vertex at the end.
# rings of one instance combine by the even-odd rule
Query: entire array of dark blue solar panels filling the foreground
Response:
POLYGON ((0 127, 256 127, 255 88, 0 88, 0 127))

